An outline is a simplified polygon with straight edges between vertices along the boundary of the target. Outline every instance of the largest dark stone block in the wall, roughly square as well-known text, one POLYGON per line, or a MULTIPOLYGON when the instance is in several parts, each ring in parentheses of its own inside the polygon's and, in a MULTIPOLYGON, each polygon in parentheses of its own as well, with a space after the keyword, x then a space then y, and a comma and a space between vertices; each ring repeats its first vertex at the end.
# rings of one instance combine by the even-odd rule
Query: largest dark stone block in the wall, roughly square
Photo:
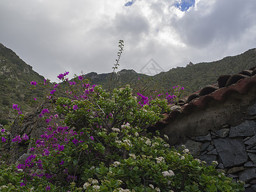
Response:
POLYGON ((214 145, 225 168, 239 166, 248 159, 242 139, 219 138, 214 145))

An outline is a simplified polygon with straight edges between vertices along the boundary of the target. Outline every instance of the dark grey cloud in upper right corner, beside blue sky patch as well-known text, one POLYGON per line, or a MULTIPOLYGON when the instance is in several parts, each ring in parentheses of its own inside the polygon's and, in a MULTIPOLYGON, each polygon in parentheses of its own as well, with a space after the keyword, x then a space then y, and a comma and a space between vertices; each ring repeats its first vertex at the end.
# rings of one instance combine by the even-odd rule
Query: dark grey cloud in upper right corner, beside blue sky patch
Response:
POLYGON ((227 43, 237 40, 247 28, 256 24, 255 8, 255 1, 216 1, 211 13, 191 9, 181 19, 173 19, 172 24, 190 46, 204 47, 214 41, 227 43))

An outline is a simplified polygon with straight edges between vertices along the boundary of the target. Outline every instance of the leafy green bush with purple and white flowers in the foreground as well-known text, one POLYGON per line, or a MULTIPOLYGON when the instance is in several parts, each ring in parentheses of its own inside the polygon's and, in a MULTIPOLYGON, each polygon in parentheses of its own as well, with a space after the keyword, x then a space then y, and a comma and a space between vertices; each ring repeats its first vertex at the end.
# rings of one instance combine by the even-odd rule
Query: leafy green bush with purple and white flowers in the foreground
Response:
MULTIPOLYGON (((164 141, 168 136, 147 133, 148 125, 170 111, 169 97, 133 95, 129 86, 109 93, 83 76, 68 81, 67 74, 58 76, 65 83, 63 92, 60 84, 46 84, 47 99, 56 100, 56 115, 49 109, 40 113, 48 128, 40 138, 30 138, 25 163, 1 164, 1 191, 244 190, 243 184, 217 173, 214 164, 193 159, 188 149, 170 148, 164 141), (60 115, 65 116, 62 124, 60 115)), ((13 109, 20 111, 16 105, 13 109)), ((7 142, 4 134, 2 129, 2 143, 7 142)), ((10 142, 23 140, 29 137, 15 136, 10 142)))

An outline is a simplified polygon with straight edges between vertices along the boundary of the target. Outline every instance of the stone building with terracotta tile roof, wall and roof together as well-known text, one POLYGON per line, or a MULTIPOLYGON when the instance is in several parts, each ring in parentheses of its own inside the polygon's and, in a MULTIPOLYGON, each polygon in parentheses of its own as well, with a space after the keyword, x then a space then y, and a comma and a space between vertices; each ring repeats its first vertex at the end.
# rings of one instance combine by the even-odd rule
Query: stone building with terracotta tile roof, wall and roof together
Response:
POLYGON ((171 145, 184 144, 191 154, 225 170, 235 181, 256 191, 256 68, 220 76, 173 106, 156 127, 171 145))

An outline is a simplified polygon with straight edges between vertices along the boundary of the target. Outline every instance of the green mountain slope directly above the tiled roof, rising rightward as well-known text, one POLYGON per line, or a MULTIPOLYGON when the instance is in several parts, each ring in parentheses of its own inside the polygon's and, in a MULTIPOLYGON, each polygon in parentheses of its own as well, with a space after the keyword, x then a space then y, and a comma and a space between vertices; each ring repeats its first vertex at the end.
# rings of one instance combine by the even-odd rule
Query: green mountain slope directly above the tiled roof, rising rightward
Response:
POLYGON ((204 86, 217 83, 220 75, 236 74, 255 65, 256 49, 249 49, 243 54, 227 56, 219 61, 195 65, 189 63, 186 67, 172 68, 168 72, 157 74, 154 79, 161 81, 165 89, 179 84, 184 86, 188 93, 193 93, 204 86))

